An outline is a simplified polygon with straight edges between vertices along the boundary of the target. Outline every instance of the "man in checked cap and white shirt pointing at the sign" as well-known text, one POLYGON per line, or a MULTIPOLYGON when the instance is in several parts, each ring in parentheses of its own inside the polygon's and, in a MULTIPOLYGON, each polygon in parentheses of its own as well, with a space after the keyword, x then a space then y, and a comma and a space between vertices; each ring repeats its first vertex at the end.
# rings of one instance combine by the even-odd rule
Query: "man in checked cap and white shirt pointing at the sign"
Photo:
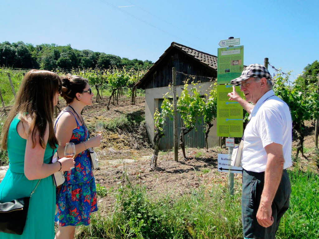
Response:
POLYGON ((263 65, 249 65, 232 83, 240 85, 246 100, 234 86, 229 100, 237 101, 250 114, 241 160, 244 238, 274 239, 280 219, 289 207, 291 192, 286 171, 292 165, 289 107, 274 95, 271 75, 263 65))

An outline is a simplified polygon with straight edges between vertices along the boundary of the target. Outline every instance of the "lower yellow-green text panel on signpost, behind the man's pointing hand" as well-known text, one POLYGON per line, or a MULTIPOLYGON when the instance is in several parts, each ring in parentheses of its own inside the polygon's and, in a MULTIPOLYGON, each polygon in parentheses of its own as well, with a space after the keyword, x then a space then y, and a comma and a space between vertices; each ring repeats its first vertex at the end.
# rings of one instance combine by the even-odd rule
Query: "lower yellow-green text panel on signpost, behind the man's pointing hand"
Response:
MULTIPOLYGON (((243 97, 239 86, 236 92, 243 97)), ((243 126, 243 108, 234 101, 228 100, 228 93, 233 91, 233 85, 217 85, 217 136, 241 137, 243 126)))

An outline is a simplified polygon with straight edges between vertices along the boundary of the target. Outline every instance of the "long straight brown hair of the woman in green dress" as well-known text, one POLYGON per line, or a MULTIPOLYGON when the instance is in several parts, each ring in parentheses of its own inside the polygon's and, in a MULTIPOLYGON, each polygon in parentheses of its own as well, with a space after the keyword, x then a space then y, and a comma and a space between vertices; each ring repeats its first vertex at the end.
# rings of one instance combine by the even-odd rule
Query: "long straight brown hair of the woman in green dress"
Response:
POLYGON ((53 97, 62 87, 60 77, 48 70, 30 70, 23 77, 19 92, 4 122, 1 133, 1 147, 7 149, 8 131, 14 117, 18 114, 20 120, 31 118, 30 130, 33 148, 36 145, 35 136, 39 132, 39 143, 45 148, 44 134, 49 124, 48 143, 55 148, 58 141, 53 129, 53 97), (32 131, 32 132, 31 132, 32 131))

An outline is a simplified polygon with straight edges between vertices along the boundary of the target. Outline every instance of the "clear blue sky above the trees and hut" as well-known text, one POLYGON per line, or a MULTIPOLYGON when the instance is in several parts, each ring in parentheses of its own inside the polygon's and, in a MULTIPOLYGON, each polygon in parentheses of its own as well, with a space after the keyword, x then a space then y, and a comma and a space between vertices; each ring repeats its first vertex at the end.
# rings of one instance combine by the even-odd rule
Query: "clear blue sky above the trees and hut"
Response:
POLYGON ((295 78, 319 60, 318 9, 317 0, 2 1, 0 42, 71 44, 155 62, 173 41, 216 55, 219 41, 234 36, 244 64, 268 57, 295 78))

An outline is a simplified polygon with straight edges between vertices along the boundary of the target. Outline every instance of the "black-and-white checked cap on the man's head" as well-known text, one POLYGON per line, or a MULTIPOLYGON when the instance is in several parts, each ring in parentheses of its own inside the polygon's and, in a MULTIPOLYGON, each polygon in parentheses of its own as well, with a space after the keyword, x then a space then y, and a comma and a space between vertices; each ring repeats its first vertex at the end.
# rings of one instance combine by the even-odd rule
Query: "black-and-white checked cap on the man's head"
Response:
POLYGON ((239 82, 247 80, 250 77, 259 77, 259 78, 266 78, 271 80, 271 74, 269 73, 268 69, 261 64, 251 64, 246 67, 241 73, 241 76, 238 78, 231 80, 231 83, 234 85, 239 85, 239 82))

